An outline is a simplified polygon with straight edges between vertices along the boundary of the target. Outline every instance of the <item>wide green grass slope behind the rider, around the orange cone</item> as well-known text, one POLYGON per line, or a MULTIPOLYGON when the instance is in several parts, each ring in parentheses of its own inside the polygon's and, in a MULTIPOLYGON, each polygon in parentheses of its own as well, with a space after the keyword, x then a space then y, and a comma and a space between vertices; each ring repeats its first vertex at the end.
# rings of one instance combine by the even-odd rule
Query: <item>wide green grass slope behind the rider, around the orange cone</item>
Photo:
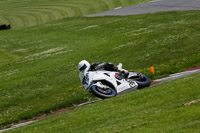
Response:
POLYGON ((199 11, 79 17, 0 31, 1 127, 93 99, 78 78, 82 59, 122 62, 151 79, 199 65, 199 18, 199 11))

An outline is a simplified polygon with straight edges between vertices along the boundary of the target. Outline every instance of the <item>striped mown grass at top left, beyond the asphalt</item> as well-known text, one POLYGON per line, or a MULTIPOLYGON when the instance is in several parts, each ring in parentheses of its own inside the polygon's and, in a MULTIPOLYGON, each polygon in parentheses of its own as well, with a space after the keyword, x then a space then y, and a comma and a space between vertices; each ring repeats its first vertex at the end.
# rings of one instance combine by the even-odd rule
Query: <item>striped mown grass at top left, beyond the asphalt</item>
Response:
POLYGON ((0 24, 20 28, 94 14, 150 0, 1 0, 0 24))

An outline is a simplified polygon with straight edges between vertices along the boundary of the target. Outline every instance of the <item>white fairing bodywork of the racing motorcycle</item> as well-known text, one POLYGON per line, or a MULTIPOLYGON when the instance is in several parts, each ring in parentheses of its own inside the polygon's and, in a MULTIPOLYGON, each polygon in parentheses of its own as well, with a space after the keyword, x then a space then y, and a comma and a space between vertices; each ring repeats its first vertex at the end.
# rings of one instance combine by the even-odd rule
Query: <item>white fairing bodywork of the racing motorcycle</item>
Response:
MULTIPOLYGON (((104 84, 101 84, 101 81, 106 81, 112 84, 113 89, 116 90, 117 94, 121 94, 127 90, 135 90, 138 87, 138 84, 131 79, 118 78, 119 73, 111 71, 89 71, 85 73, 85 89, 90 90, 90 87, 96 85, 100 88, 108 87, 104 84)), ((111 87, 111 86, 109 86, 111 87)))

